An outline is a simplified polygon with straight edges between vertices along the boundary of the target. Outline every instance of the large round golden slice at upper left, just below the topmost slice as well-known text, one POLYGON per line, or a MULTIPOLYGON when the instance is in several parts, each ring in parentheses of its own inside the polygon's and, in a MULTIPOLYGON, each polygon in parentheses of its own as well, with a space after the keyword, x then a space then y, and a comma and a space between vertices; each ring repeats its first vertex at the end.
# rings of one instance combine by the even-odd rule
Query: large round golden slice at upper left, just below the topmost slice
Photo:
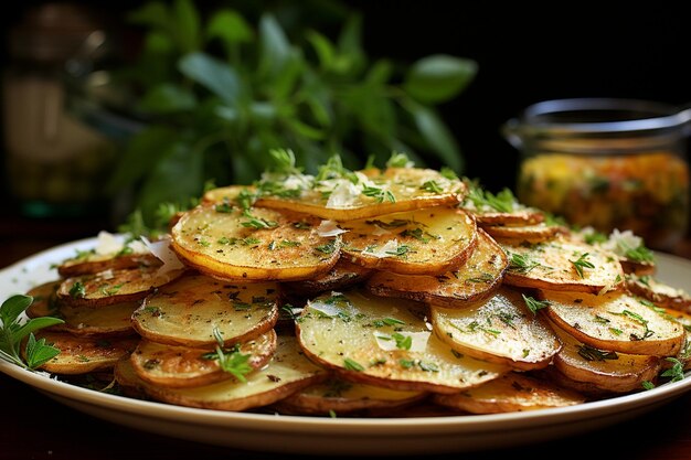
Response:
POLYGON ((172 228, 172 248, 220 279, 298 280, 326 274, 339 259, 338 237, 319 236, 317 217, 262 207, 202 205, 172 228))

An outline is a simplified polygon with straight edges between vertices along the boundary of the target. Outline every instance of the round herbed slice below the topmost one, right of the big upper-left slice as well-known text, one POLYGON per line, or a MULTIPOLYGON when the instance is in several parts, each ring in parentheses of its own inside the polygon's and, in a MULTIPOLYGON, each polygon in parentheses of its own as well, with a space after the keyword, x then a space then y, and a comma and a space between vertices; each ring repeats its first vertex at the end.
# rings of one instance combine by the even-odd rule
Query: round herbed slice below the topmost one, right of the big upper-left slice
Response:
POLYGON ((343 256, 368 268, 403 275, 443 274, 465 263, 477 245, 475 220, 446 206, 341 224, 343 256))

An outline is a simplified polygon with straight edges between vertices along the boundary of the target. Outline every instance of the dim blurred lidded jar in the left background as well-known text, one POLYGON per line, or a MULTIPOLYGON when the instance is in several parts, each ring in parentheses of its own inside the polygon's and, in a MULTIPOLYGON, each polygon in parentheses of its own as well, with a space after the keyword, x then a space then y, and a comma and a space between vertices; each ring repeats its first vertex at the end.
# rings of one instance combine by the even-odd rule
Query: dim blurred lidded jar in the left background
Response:
POLYGON ((105 32, 86 7, 46 2, 29 8, 7 35, 3 135, 7 184, 30 217, 103 212, 113 142, 65 109, 67 67, 95 62, 105 32))

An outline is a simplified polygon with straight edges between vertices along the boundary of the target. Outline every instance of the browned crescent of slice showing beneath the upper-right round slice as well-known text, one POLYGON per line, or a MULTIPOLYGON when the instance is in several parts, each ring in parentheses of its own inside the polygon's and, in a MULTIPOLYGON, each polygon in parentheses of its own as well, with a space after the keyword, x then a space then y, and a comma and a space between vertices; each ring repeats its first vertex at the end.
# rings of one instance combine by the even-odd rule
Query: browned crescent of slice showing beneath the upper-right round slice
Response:
POLYGON ((468 260, 443 275, 397 275, 375 271, 365 281, 376 296, 402 297, 444 308, 463 308, 480 301, 501 285, 509 259, 485 231, 478 228, 477 247, 468 260))

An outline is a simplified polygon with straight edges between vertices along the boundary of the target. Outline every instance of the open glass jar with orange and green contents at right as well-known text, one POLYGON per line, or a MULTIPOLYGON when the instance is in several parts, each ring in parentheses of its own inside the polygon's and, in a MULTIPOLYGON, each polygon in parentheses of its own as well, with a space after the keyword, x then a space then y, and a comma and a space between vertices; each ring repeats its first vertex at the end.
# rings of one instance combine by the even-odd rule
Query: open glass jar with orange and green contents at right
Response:
POLYGON ((534 104, 503 135, 520 152, 517 196, 603 233, 630 229, 671 250, 689 223, 691 109, 638 99, 534 104))

